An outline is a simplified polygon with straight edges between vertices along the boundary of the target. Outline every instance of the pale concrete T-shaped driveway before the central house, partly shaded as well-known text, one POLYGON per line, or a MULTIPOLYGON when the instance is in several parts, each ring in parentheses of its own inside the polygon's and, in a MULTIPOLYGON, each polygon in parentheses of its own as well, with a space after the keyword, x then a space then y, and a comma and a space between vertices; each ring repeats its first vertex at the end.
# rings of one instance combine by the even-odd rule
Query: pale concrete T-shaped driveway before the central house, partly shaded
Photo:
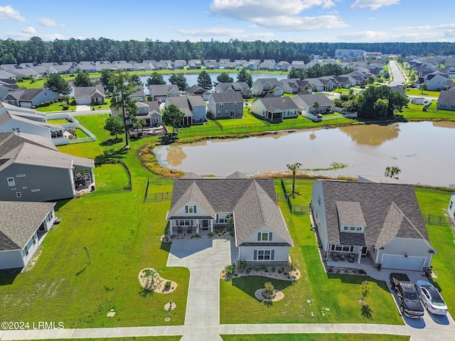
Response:
POLYGON ((173 240, 167 266, 190 270, 185 325, 181 340, 222 340, 220 324, 220 271, 237 261, 229 239, 173 240))

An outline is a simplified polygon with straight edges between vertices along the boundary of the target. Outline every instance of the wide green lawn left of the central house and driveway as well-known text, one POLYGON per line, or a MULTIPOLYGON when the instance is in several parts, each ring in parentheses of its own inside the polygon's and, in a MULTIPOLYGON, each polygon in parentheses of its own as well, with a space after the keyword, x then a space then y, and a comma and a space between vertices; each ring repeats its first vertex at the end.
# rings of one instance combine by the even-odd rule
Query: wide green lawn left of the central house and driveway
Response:
MULTIPOLYGON (((121 148, 123 144, 105 145, 111 136, 100 127, 103 118, 80 117, 98 140, 60 151, 92 158, 107 148, 121 148)), ((134 141, 122 155, 132 173, 132 191, 115 191, 127 185, 127 175, 121 166, 109 164, 95 168, 100 191, 58 202, 56 215, 62 222, 43 241, 33 269, 0 276, 1 320, 55 320, 65 328, 183 324, 189 272, 166 268, 170 243, 160 238, 170 202, 143 203, 146 179, 154 178, 137 158, 144 142, 134 141), (144 293, 138 274, 149 266, 176 281, 176 291, 144 293), (170 313, 164 310, 169 300, 177 305, 170 313), (107 318, 111 308, 117 314, 107 318)))

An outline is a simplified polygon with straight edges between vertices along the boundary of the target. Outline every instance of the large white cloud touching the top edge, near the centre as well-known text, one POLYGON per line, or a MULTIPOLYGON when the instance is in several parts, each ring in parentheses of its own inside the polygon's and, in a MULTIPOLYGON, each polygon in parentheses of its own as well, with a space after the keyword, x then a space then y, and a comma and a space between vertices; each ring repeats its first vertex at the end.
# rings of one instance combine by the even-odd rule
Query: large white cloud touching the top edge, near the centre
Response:
POLYGON ((250 18, 293 16, 314 6, 329 9, 335 4, 332 0, 281 0, 279 4, 276 0, 213 0, 210 11, 249 21, 250 18))

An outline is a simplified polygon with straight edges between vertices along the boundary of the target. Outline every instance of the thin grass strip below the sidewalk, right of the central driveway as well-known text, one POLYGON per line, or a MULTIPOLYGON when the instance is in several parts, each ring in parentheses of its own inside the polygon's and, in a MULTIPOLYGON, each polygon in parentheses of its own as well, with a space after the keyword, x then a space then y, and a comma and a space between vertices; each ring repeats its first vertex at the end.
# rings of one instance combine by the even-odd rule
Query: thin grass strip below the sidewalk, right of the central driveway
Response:
POLYGON ((224 341, 409 341, 409 336, 376 334, 221 335, 224 341))

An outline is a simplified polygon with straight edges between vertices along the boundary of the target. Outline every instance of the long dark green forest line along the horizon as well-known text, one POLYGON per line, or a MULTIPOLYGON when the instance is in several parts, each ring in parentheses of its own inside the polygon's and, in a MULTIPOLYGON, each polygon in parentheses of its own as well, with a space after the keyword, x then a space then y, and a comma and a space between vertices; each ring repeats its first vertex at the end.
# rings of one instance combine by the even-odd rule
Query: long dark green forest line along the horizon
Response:
POLYGON ((176 60, 215 59, 230 60, 274 59, 302 60, 309 63, 311 55, 323 58, 335 55, 338 48, 362 49, 397 55, 451 55, 455 43, 294 43, 286 41, 218 40, 198 41, 171 40, 112 40, 108 38, 43 41, 32 37, 29 40, 0 39, 0 64, 14 63, 62 63, 82 60, 176 60))

